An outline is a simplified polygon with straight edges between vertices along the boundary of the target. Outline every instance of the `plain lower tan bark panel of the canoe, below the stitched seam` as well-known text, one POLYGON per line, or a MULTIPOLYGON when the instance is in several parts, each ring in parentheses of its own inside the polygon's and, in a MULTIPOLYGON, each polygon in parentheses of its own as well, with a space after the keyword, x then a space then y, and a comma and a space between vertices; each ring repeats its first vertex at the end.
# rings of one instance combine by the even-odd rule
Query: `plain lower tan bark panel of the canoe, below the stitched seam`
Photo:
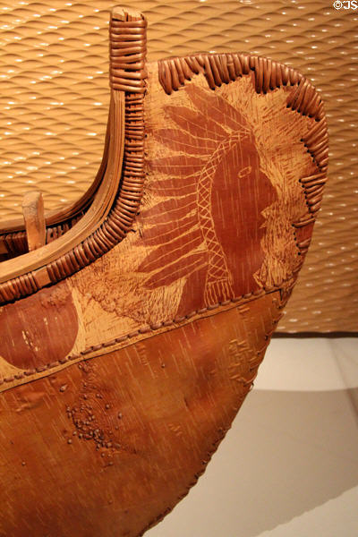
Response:
POLYGON ((2 394, 0 533, 136 537, 165 516, 230 427, 276 320, 270 294, 2 394))

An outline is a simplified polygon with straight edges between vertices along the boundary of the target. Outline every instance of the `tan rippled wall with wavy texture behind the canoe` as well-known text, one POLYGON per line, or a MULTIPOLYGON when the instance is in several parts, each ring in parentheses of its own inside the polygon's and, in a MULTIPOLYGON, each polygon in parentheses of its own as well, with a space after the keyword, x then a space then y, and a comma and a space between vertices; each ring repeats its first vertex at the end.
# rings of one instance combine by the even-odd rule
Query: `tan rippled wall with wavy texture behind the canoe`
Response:
MULTIPOLYGON (((94 178, 107 122, 107 21, 114 2, 0 0, 0 217, 36 185, 47 209, 94 178)), ((322 91, 330 181, 281 331, 358 327, 358 10, 330 1, 141 0, 149 60, 198 50, 268 55, 322 91)))

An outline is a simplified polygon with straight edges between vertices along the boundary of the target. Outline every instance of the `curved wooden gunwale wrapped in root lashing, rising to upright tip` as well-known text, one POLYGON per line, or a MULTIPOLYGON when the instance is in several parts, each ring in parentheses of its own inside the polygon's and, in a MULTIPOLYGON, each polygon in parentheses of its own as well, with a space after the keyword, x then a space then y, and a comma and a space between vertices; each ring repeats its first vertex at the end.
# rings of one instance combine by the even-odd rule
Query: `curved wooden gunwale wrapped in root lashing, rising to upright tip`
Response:
MULTIPOLYGON (((141 65, 146 54, 146 21, 141 13, 124 10, 112 14, 110 30, 118 33, 110 42, 110 72, 113 71, 113 50, 122 44, 122 53, 129 69, 135 69, 137 54, 132 54, 128 29, 139 29, 141 34, 141 65), (122 19, 121 19, 122 17, 122 19)), ((19 259, 6 260, 0 265, 0 302, 6 303, 36 292, 42 286, 55 283, 76 270, 90 264, 121 241, 138 210, 144 181, 144 116, 143 95, 146 89, 145 71, 141 68, 141 86, 126 81, 122 87, 111 74, 111 106, 108 165, 105 177, 86 215, 70 231, 47 245, 41 256, 30 252, 19 259), (127 92, 127 88, 130 91, 127 92), (124 96, 125 90, 125 96, 124 96), (124 108, 125 104, 125 108, 124 108), (140 111, 140 112, 139 112, 140 111), (124 115, 126 150, 124 152, 124 115), (141 129, 132 132, 135 121, 141 129), (123 158, 123 181, 120 186, 123 158), (133 187, 135 183, 135 188, 133 187), (112 209, 112 211, 111 211, 112 209)))

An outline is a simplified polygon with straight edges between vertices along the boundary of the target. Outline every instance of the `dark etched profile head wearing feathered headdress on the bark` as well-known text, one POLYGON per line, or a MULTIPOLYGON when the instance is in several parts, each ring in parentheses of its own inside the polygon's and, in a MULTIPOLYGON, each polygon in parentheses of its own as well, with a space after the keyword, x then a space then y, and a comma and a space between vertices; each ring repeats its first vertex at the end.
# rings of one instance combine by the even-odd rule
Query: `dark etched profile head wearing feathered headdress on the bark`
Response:
MULTIPOLYGON (((167 125, 153 131, 149 128, 149 136, 170 155, 152 159, 149 167, 158 176, 159 192, 166 193, 166 201, 161 202, 167 215, 166 229, 175 231, 175 213, 181 207, 188 206, 191 217, 176 229, 178 236, 186 234, 179 249, 177 238, 167 242, 160 233, 153 237, 152 243, 158 247, 150 257, 157 262, 165 251, 167 258, 175 261, 170 265, 157 262, 147 285, 167 285, 180 277, 185 264, 192 266, 189 272, 193 272, 205 263, 206 274, 201 276, 204 303, 217 303, 257 289, 252 275, 260 268, 263 251, 252 244, 260 244, 264 233, 261 211, 275 199, 275 191, 260 171, 251 125, 238 103, 232 105, 223 95, 190 85, 183 90, 180 105, 166 105, 165 114, 167 125), (258 191, 264 193, 259 199, 258 191), (241 213, 240 226, 232 219, 236 213, 241 213), (192 247, 188 256, 191 243, 196 250, 192 247), (234 284, 233 273, 237 270, 241 277, 235 277, 234 284)), ((156 206, 144 210, 149 225, 154 225, 157 211, 156 206)), ((145 260, 140 270, 149 268, 145 260)), ((184 301, 183 297, 180 311, 184 301)))

